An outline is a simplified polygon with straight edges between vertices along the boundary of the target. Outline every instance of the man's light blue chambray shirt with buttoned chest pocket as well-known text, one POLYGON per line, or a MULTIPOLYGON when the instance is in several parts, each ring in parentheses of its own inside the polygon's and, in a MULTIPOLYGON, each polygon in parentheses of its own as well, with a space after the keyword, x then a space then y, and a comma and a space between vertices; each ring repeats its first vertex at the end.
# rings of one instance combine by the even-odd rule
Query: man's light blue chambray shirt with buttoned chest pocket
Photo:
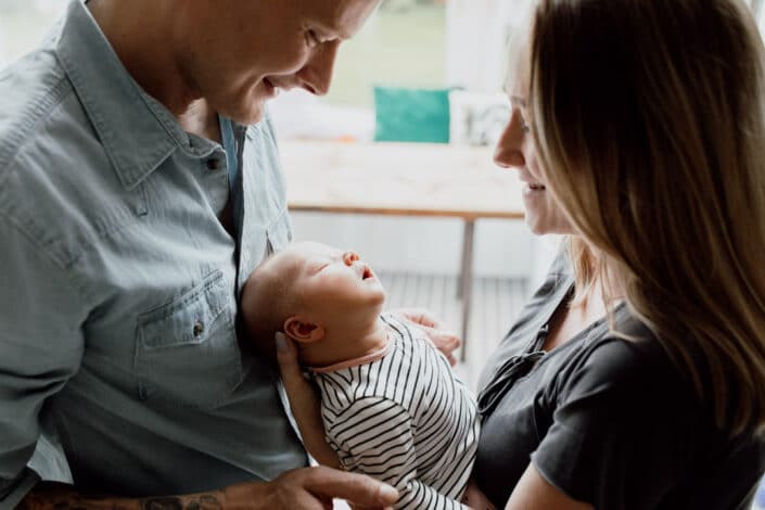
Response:
POLYGON ((235 334, 242 284, 291 234, 270 122, 234 133, 238 239, 222 148, 141 90, 80 0, 0 74, 0 507, 29 468, 136 496, 306 464, 235 334))

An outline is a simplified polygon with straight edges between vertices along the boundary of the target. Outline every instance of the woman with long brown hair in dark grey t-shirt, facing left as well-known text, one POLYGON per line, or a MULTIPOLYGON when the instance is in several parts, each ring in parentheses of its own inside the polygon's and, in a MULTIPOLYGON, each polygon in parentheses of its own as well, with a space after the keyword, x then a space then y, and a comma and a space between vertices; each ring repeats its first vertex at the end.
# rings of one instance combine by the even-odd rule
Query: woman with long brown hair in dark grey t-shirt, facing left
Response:
POLYGON ((566 248, 482 375, 507 509, 738 509, 764 469, 765 80, 737 0, 541 0, 495 154, 566 248))

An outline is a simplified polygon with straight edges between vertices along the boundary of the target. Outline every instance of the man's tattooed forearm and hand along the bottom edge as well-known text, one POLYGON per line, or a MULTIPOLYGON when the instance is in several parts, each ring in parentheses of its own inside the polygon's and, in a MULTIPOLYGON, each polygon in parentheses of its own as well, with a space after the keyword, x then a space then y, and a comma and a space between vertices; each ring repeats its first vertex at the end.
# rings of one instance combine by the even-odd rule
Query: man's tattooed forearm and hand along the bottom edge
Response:
POLYGON ((225 509, 324 509, 332 498, 342 498, 362 508, 385 508, 398 499, 390 485, 369 476, 330 468, 288 471, 271 482, 250 482, 220 490, 181 496, 144 498, 91 497, 71 486, 43 483, 29 493, 21 510, 225 510, 225 509))

